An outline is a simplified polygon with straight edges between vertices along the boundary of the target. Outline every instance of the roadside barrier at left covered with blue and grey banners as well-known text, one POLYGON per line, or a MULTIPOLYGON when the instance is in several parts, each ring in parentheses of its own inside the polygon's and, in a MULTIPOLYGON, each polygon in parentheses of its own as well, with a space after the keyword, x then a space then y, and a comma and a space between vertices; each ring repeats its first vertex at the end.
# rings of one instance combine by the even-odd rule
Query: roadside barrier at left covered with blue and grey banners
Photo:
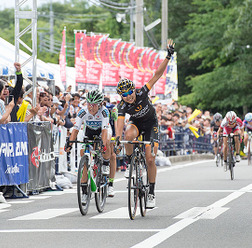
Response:
MULTIPOLYGON (((50 187, 54 163, 49 122, 0 125, 0 186, 15 186, 27 197, 27 193, 50 187), (24 191, 19 188, 23 184, 27 186, 24 191)), ((10 197, 16 197, 14 191, 10 197)))

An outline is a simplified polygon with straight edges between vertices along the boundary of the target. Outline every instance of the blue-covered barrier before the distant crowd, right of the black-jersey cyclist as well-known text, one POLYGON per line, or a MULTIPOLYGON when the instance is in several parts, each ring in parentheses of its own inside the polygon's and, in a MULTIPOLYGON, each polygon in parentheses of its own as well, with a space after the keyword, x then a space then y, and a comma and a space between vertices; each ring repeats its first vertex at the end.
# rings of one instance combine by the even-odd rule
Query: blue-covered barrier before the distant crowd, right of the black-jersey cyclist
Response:
POLYGON ((213 153, 211 135, 204 135, 196 138, 187 128, 177 127, 175 138, 169 139, 166 134, 160 134, 159 149, 166 156, 186 155, 194 153, 213 153))

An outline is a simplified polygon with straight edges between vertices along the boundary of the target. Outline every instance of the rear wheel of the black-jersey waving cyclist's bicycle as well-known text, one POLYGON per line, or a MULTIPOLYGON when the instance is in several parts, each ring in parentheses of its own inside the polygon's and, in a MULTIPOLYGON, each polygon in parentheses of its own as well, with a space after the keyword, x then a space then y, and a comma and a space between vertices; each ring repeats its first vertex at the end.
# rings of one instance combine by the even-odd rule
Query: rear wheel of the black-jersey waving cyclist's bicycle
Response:
POLYGON ((149 177, 148 177, 148 168, 147 168, 147 164, 145 161, 145 158, 141 157, 141 161, 140 161, 142 167, 142 172, 140 172, 141 175, 141 183, 142 183, 142 187, 140 189, 139 192, 139 203, 140 203, 140 212, 142 217, 144 217, 146 215, 146 202, 147 202, 147 196, 149 193, 149 177))

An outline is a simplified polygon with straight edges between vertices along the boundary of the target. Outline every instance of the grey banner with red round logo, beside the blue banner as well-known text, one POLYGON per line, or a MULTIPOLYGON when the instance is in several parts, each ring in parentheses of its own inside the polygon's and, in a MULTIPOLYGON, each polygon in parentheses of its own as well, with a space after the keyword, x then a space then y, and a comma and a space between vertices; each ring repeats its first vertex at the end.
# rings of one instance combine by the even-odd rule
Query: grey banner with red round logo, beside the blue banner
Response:
POLYGON ((28 191, 36 191, 50 186, 54 179, 55 156, 52 131, 49 122, 28 123, 29 139, 29 184, 28 191))

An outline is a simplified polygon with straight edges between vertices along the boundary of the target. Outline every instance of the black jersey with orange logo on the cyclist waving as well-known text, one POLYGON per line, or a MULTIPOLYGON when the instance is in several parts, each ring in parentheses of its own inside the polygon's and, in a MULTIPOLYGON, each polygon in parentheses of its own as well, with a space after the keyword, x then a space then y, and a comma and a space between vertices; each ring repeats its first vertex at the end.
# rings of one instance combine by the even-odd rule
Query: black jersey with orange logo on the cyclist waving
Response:
POLYGON ((130 120, 147 121, 156 117, 156 110, 153 107, 149 97, 149 88, 144 85, 141 89, 136 89, 136 101, 133 104, 126 103, 123 100, 118 104, 118 117, 130 115, 130 120))

